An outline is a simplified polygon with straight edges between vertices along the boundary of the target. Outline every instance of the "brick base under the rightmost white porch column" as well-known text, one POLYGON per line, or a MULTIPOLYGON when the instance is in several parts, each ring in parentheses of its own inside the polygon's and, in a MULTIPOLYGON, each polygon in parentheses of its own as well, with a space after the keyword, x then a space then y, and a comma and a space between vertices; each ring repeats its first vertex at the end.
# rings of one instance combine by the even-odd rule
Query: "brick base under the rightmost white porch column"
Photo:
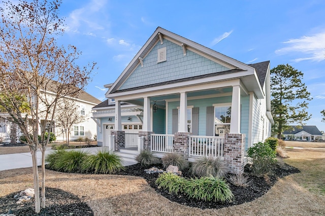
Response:
POLYGON ((245 164, 245 134, 226 134, 224 161, 231 174, 243 174, 245 164))

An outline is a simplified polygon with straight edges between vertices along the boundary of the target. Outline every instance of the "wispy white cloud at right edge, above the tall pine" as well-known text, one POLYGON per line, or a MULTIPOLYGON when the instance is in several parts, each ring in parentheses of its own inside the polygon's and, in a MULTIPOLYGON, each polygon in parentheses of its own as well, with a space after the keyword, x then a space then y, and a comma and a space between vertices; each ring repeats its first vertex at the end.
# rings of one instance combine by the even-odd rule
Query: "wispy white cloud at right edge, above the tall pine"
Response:
POLYGON ((298 39, 289 39, 283 44, 287 46, 276 50, 278 55, 297 53, 304 57, 293 59, 295 62, 301 61, 323 61, 325 59, 325 32, 320 32, 311 36, 302 36, 298 39))

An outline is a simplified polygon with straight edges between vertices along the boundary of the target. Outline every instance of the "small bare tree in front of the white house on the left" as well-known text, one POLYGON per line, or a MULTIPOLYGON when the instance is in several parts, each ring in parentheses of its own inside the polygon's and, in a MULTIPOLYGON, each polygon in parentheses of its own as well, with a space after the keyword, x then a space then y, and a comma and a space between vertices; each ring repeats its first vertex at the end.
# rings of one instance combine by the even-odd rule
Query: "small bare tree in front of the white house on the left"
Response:
POLYGON ((74 124, 79 124, 87 120, 86 115, 81 115, 80 107, 73 100, 64 99, 58 105, 58 114, 56 115, 56 126, 64 129, 66 134, 67 144, 70 141, 70 132, 74 124))

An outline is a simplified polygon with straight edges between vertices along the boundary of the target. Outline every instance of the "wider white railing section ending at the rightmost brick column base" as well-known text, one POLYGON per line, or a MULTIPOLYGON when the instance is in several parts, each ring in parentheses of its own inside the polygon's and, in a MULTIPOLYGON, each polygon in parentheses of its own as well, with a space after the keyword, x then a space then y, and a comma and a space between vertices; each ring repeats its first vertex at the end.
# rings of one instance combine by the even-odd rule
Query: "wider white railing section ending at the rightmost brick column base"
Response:
POLYGON ((224 137, 189 136, 189 157, 223 157, 223 143, 224 137))

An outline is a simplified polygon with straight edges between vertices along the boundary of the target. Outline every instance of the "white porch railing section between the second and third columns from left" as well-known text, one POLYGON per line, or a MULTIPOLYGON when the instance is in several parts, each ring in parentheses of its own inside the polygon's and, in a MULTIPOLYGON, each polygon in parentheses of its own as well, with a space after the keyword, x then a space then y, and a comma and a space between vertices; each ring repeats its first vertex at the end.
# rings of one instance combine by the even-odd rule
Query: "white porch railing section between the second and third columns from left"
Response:
POLYGON ((151 134, 151 151, 173 152, 174 135, 151 134))

